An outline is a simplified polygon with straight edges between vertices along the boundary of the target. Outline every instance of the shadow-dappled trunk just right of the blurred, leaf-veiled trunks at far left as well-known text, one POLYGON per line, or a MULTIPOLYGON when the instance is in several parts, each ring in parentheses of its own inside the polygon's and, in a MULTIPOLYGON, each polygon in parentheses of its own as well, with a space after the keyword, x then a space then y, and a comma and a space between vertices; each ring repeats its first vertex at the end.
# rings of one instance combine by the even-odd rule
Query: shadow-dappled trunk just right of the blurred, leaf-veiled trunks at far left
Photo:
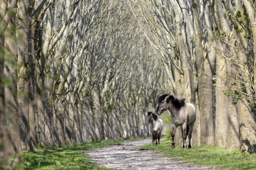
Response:
MULTIPOLYGON (((29 126, 29 76, 31 73, 31 65, 29 62, 29 57, 31 56, 29 55, 32 51, 31 46, 27 43, 27 40, 30 39, 29 33, 31 32, 31 20, 29 18, 32 9, 25 5, 28 3, 29 2, 17 3, 19 10, 17 12, 18 20, 16 22, 16 35, 19 37, 19 39, 17 39, 17 101, 20 121, 20 138, 23 150, 33 150, 29 126)), ((31 114, 33 114, 32 111, 31 114)))

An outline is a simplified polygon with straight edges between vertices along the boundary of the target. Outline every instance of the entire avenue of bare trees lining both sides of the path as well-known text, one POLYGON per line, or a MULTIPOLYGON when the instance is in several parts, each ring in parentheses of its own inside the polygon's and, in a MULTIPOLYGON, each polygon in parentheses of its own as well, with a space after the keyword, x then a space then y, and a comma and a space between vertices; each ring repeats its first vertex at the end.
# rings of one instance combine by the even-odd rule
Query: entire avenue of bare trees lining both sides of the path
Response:
POLYGON ((256 153, 255 6, 1 0, 0 165, 38 145, 148 136, 166 93, 196 106, 193 145, 256 153))

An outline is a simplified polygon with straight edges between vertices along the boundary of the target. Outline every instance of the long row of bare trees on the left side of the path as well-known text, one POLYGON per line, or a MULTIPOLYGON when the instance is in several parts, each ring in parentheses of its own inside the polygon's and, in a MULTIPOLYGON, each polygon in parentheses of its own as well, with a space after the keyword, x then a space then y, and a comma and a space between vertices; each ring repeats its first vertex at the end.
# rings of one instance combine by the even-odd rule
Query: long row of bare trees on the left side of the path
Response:
POLYGON ((4 0, 0 11, 0 165, 38 145, 149 135, 146 113, 169 86, 127 3, 4 0))

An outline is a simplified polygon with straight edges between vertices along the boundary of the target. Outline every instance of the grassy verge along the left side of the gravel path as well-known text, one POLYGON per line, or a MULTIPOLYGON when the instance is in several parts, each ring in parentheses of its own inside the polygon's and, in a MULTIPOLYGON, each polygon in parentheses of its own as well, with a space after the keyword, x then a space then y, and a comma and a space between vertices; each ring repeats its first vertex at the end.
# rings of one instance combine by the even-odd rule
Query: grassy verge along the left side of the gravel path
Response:
POLYGON ((41 147, 34 152, 24 152, 20 155, 19 170, 107 170, 91 163, 84 153, 87 149, 108 147, 111 144, 142 140, 144 138, 105 140, 76 144, 67 147, 41 147))

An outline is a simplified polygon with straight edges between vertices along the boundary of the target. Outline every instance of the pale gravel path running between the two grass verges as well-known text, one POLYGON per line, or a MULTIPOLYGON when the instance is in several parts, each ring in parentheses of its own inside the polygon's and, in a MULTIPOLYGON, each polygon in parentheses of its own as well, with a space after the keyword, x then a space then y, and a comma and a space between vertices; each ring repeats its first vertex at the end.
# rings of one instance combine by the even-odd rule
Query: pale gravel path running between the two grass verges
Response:
POLYGON ((216 167, 187 164, 161 156, 153 150, 136 150, 145 143, 151 143, 151 139, 86 150, 86 153, 94 164, 117 170, 222 170, 216 167))

